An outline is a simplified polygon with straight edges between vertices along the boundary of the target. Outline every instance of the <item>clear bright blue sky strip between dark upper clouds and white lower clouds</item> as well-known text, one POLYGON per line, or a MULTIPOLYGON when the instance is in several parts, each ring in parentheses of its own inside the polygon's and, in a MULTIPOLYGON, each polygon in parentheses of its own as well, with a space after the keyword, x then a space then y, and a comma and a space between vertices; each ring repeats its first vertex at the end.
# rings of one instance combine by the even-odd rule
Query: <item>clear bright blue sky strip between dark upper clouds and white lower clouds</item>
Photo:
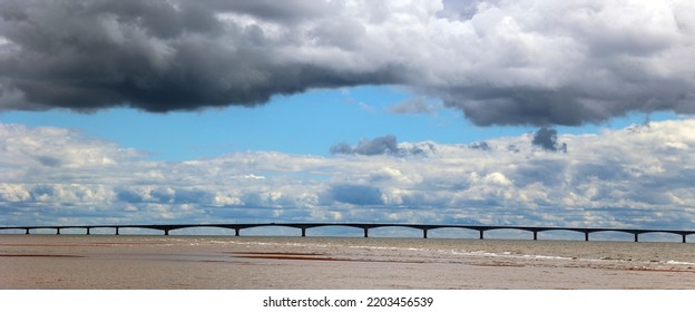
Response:
MULTIPOLYGON (((461 111, 428 98, 432 111, 394 114, 390 107, 417 94, 397 86, 309 90, 276 96, 260 107, 226 107, 199 111, 145 113, 112 108, 95 113, 66 109, 6 111, 2 123, 77 129, 86 135, 147 153, 154 160, 187 160, 246 150, 329 155, 330 147, 394 135, 399 142, 432 140, 470 144, 538 130, 535 126, 480 127, 461 111)), ((678 118, 675 114, 629 114, 598 125, 557 127, 560 134, 596 134, 646 119, 678 118)))

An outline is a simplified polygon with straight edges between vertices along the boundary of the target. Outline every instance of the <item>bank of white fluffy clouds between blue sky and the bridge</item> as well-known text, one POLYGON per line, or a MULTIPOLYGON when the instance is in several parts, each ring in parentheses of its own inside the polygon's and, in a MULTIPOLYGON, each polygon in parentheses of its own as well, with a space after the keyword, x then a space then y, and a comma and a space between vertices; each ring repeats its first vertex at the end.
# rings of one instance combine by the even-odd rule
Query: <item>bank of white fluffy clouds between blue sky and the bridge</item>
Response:
POLYGON ((4 224, 424 222, 688 227, 695 120, 470 145, 400 143, 330 157, 249 152, 189 162, 62 128, 0 126, 4 224), (481 148, 484 146, 484 148, 481 148))

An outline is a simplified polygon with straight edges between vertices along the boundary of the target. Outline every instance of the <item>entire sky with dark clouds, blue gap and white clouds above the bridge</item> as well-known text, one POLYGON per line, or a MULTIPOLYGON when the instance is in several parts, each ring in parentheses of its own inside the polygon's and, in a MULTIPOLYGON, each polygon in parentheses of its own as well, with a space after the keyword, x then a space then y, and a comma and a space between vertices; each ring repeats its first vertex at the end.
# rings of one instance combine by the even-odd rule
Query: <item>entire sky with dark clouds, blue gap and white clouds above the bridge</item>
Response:
POLYGON ((692 1, 0 2, 0 224, 695 227, 692 1))

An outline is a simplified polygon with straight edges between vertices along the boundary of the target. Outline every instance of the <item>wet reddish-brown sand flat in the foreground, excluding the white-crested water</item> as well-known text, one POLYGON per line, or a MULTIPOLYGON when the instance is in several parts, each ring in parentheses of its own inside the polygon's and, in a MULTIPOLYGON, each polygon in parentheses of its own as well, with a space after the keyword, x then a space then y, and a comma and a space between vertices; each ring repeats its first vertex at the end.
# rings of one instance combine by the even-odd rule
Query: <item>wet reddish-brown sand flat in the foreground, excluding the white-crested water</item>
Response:
POLYGON ((190 240, 2 235, 0 289, 695 289, 688 265, 190 240))

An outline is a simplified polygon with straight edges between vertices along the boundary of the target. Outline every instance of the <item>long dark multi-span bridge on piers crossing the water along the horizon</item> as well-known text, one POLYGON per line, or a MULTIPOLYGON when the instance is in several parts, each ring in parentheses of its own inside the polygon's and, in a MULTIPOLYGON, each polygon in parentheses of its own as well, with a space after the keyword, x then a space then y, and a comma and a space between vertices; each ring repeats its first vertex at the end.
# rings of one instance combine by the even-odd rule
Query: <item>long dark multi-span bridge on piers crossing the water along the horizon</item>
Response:
POLYGON ((639 234, 645 233, 669 233, 681 235, 683 243, 686 242, 686 236, 695 234, 695 231, 676 231, 676 230, 637 230, 637 228, 590 228, 590 227, 549 227, 549 226, 513 226, 513 225, 443 225, 443 224, 401 224, 401 223, 231 223, 231 224, 150 224, 150 225, 65 225, 65 226, 0 226, 1 230, 20 230, 25 231, 25 234, 30 234, 32 230, 56 230, 56 234, 60 234, 61 230, 68 228, 81 228, 86 230, 86 234, 89 235, 92 228, 114 228, 116 235, 119 235, 121 228, 149 228, 163 231, 164 235, 169 235, 169 232, 180 228, 192 227, 218 227, 234 230, 235 236, 239 236, 242 230, 252 227, 266 227, 266 226, 284 226, 293 227, 302 231, 302 236, 306 236, 306 230, 313 227, 323 226, 348 226, 362 228, 364 231, 364 237, 369 237, 369 231, 376 227, 410 227, 422 231, 422 237, 428 237, 428 231, 435 228, 464 228, 478 231, 480 240, 483 240, 484 232, 492 230, 520 230, 530 232, 534 234, 534 241, 538 240, 538 233, 548 231, 571 231, 584 233, 584 240, 589 241, 589 234, 596 232, 623 232, 629 233, 635 236, 635 242, 639 242, 639 234))

